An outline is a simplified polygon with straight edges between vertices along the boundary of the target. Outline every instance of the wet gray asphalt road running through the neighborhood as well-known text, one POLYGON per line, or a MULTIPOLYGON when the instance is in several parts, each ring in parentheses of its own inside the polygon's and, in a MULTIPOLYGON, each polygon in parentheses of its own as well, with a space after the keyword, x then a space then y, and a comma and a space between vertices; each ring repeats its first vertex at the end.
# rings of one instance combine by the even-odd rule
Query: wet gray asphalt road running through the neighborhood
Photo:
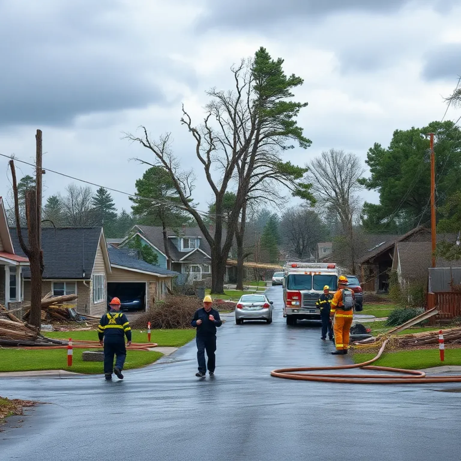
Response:
POLYGON ((0 379, 0 395, 49 402, 0 432, 0 460, 461 459, 460 386, 290 381, 273 368, 336 364, 315 325, 219 329, 214 378, 195 378, 195 342, 124 381, 0 379))

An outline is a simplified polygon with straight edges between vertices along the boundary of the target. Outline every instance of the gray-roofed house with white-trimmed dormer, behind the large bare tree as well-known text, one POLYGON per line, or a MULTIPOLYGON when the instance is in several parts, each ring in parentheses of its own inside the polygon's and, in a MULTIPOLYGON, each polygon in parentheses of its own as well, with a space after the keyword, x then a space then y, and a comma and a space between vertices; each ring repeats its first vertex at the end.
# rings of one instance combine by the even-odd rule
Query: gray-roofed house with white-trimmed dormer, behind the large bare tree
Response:
POLYGON ((134 238, 139 237, 143 245, 149 245, 159 260, 159 266, 181 274, 187 274, 192 280, 211 278, 211 250, 207 239, 198 227, 183 226, 180 231, 168 229, 165 251, 163 230, 161 227, 136 225, 119 248, 127 248, 134 238))

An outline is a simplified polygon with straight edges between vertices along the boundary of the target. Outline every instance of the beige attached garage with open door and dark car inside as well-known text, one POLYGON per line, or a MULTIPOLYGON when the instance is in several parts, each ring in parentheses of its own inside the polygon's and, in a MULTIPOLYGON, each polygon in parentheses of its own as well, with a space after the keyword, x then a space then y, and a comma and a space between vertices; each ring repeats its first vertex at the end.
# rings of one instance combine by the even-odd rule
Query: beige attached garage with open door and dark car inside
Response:
POLYGON ((112 272, 107 275, 107 297, 120 298, 123 310, 146 310, 162 299, 177 272, 153 266, 136 257, 136 250, 107 247, 112 272))

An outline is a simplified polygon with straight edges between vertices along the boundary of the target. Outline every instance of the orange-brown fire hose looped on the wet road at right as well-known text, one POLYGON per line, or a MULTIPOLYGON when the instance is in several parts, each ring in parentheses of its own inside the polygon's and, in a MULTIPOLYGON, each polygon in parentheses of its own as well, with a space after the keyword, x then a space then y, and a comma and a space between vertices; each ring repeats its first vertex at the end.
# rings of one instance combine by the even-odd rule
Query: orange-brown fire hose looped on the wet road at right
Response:
POLYGON ((379 349, 378 355, 369 361, 354 365, 341 366, 308 366, 303 368, 279 368, 272 370, 271 376, 284 379, 297 379, 301 381, 319 381, 324 383, 349 383, 349 384, 419 384, 419 383, 461 383, 461 376, 426 376, 425 372, 418 370, 403 370, 389 366, 373 366, 371 363, 377 361, 384 352, 388 343, 384 341, 379 349), (401 373, 400 376, 389 374, 325 374, 310 373, 321 370, 348 370, 361 368, 362 370, 374 370, 379 372, 401 373), (307 373, 306 373, 307 372, 307 373), (403 376, 402 376, 403 375, 403 376), (405 376, 408 375, 408 376, 405 376))

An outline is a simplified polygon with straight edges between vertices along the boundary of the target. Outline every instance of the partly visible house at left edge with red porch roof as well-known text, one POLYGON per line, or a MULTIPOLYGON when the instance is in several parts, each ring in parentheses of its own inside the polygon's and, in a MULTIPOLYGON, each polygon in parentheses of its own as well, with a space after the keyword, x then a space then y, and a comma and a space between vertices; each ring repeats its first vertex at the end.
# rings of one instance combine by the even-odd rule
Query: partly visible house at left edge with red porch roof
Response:
POLYGON ((25 255, 15 252, 3 199, 0 197, 0 304, 7 309, 18 307, 24 299, 25 255))

